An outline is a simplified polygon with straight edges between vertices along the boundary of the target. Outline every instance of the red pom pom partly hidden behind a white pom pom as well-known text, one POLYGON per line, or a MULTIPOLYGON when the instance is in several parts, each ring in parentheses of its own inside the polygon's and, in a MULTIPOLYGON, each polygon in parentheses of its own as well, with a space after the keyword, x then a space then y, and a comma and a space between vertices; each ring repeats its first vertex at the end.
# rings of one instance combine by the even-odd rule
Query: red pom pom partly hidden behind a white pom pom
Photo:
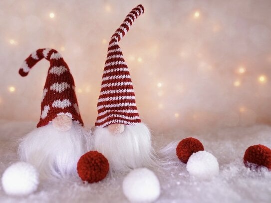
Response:
POLYGON ((187 164, 189 157, 198 151, 203 151, 202 143, 195 138, 185 138, 179 142, 176 148, 176 155, 181 162, 187 164))

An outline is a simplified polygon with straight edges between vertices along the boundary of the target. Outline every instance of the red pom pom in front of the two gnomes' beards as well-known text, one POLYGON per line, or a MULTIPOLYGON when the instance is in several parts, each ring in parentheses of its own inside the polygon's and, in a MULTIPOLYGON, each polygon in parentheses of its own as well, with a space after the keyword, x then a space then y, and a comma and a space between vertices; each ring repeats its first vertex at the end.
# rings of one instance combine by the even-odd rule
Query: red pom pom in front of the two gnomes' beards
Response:
POLYGON ((87 152, 77 163, 79 177, 88 183, 96 183, 103 180, 108 171, 108 160, 97 151, 87 152))

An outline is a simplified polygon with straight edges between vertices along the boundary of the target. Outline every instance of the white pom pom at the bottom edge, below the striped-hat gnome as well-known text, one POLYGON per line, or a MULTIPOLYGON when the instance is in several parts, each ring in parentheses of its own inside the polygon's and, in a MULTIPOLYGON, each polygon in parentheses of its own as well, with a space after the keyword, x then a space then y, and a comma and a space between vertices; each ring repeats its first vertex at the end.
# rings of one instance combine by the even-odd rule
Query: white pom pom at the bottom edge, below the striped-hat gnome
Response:
POLYGON ((147 168, 131 171, 122 183, 123 193, 130 202, 153 202, 160 196, 160 183, 147 168))

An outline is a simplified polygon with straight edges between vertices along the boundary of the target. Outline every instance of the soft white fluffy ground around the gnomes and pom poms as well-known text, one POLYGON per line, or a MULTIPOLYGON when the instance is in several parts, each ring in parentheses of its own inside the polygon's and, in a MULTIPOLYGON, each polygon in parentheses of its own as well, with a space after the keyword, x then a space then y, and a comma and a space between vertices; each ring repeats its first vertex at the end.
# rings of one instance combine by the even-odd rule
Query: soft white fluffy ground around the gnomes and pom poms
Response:
MULTIPOLYGON (((0 120, 0 174, 17 161, 17 140, 35 127, 33 122, 0 120)), ((185 165, 172 165, 171 169, 157 169, 161 183, 158 203, 270 203, 271 172, 251 171, 243 166, 242 158, 250 145, 263 144, 271 148, 271 127, 251 126, 209 130, 191 134, 181 130, 154 135, 156 146, 193 136, 202 141, 206 151, 213 153, 220 164, 220 175, 211 181, 193 180, 185 165)), ((174 152, 173 152, 174 156, 174 152)), ((32 202, 128 202, 122 193, 124 175, 107 177, 97 184, 83 184, 77 180, 42 181, 34 194, 16 198, 4 194, 0 188, 1 203, 32 202)))

